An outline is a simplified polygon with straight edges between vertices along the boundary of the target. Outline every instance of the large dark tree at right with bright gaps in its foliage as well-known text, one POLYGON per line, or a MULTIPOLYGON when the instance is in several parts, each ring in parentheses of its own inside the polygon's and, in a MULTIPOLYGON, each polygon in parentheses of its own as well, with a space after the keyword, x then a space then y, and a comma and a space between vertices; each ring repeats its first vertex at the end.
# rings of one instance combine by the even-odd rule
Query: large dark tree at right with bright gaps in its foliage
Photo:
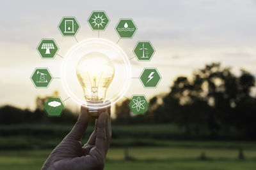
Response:
POLYGON ((212 63, 195 71, 190 81, 184 76, 178 77, 157 110, 162 112, 165 120, 184 127, 187 134, 204 134, 206 131, 211 136, 221 132, 227 134, 241 124, 244 111, 247 118, 255 118, 250 113, 256 106, 250 105, 248 110, 243 104, 252 103, 250 92, 254 85, 252 74, 241 70, 241 75, 235 76, 229 67, 212 63))

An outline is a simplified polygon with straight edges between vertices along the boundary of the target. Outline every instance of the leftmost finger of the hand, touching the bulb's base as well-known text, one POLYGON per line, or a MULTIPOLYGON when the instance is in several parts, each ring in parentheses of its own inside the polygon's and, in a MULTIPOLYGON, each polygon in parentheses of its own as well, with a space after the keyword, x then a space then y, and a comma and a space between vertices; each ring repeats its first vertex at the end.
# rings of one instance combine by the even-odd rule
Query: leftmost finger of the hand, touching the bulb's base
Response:
POLYGON ((81 141, 81 138, 83 137, 83 134, 88 127, 89 121, 90 117, 88 115, 88 108, 86 108, 85 106, 81 106, 79 118, 73 129, 69 132, 65 139, 74 139, 81 141))

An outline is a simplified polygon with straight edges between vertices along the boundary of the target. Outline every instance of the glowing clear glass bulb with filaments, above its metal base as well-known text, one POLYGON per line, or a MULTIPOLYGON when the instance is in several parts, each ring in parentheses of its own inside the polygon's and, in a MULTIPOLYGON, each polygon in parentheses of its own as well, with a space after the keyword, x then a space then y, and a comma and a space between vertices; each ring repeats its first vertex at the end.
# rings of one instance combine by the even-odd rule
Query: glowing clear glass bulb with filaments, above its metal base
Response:
POLYGON ((104 101, 115 75, 115 66, 108 56, 99 52, 84 55, 76 66, 76 76, 86 101, 104 101))

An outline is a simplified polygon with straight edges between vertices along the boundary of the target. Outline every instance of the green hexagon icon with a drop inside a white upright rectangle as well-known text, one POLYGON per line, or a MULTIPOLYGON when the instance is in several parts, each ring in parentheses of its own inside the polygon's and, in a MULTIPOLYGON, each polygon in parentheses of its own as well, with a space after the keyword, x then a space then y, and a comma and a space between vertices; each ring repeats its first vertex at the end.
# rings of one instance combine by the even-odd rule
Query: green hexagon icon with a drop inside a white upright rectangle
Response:
POLYGON ((80 25, 78 24, 76 17, 63 17, 58 25, 62 36, 76 36, 80 25))

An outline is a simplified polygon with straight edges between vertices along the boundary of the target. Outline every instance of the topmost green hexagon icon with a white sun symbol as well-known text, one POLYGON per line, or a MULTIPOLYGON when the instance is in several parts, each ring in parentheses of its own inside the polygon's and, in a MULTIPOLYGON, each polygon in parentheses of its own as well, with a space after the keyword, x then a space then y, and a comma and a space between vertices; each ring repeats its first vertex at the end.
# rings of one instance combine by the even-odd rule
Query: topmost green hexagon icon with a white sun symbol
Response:
POLYGON ((104 31, 109 23, 109 18, 105 11, 92 11, 87 22, 93 31, 104 31))

